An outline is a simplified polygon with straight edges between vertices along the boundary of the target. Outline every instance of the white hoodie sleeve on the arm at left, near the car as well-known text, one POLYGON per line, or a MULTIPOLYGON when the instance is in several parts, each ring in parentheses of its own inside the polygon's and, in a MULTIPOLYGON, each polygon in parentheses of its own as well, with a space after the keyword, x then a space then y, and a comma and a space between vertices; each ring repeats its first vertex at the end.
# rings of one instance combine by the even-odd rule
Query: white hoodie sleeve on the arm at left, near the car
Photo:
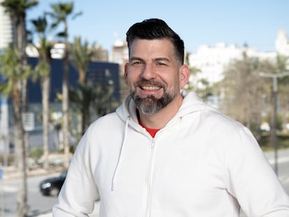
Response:
POLYGON ((90 149, 87 130, 77 145, 58 202, 52 209, 54 217, 88 216, 94 211, 99 193, 91 168, 90 149))

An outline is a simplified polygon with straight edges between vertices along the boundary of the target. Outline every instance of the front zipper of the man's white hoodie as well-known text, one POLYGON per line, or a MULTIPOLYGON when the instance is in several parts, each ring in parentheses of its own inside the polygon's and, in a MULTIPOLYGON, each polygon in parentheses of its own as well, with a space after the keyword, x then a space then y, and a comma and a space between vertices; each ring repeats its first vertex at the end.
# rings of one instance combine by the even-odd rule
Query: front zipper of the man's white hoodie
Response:
POLYGON ((151 139, 151 148, 149 151, 149 161, 147 167, 147 174, 146 174, 146 193, 145 193, 145 210, 144 210, 144 217, 149 217, 149 212, 151 209, 151 178, 153 174, 153 160, 154 160, 154 147, 156 144, 156 140, 153 138, 151 139))

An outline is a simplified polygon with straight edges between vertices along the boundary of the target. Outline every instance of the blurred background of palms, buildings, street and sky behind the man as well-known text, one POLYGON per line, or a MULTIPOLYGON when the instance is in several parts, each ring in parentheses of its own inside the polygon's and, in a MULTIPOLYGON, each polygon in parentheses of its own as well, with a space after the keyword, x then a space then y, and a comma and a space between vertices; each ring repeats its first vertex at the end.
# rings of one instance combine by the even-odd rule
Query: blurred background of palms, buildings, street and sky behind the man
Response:
POLYGON ((126 31, 151 17, 184 40, 186 90, 248 127, 289 190, 288 8, 283 0, 0 0, 2 216, 51 210, 55 197, 40 193, 40 181, 65 172, 89 124, 120 105, 126 31), (34 209, 36 201, 44 202, 34 209))

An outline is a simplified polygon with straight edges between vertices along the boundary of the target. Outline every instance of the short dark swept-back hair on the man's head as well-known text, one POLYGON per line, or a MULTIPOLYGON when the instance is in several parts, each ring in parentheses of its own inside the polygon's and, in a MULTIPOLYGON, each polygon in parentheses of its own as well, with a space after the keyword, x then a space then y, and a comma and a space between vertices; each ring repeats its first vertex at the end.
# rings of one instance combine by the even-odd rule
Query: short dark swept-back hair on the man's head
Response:
POLYGON ((181 64, 184 64, 184 41, 163 20, 151 18, 133 24, 126 32, 128 54, 131 55, 133 40, 139 39, 163 39, 168 38, 175 48, 175 55, 181 64))

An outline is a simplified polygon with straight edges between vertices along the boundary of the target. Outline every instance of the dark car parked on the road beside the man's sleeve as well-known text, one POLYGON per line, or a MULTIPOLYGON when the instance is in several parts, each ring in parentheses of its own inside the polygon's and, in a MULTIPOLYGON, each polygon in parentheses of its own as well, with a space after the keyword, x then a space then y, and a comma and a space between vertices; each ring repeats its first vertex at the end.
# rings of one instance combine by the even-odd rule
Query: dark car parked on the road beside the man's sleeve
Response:
POLYGON ((53 177, 50 179, 45 179, 40 182, 40 192, 43 195, 57 196, 61 187, 64 184, 64 180, 66 178, 66 172, 62 172, 59 177, 53 177))

